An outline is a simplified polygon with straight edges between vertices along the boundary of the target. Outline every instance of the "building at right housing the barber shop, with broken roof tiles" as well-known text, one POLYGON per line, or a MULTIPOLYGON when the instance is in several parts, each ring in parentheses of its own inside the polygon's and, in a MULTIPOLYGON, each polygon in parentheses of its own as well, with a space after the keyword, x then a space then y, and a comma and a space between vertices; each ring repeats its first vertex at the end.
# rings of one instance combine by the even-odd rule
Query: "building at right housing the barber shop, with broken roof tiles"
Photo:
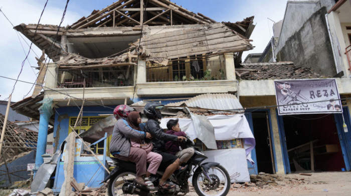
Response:
MULTIPOLYGON (((247 116, 256 146, 261 146, 252 152, 259 171, 351 169, 350 10, 347 0, 288 1, 258 62, 236 69, 241 104, 260 108, 247 116), (265 108, 278 102, 274 80, 311 78, 335 78, 342 113, 278 115, 276 107, 265 108)), ((333 101, 330 93, 323 96, 327 107, 333 101)))

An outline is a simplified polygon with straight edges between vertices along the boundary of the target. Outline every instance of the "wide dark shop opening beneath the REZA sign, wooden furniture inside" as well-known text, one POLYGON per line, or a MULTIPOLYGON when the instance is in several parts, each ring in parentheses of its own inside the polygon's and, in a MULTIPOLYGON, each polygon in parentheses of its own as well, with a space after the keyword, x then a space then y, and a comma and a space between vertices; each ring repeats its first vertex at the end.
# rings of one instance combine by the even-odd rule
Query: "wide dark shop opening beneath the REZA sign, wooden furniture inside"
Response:
POLYGON ((345 168, 332 114, 283 116, 291 172, 345 168))

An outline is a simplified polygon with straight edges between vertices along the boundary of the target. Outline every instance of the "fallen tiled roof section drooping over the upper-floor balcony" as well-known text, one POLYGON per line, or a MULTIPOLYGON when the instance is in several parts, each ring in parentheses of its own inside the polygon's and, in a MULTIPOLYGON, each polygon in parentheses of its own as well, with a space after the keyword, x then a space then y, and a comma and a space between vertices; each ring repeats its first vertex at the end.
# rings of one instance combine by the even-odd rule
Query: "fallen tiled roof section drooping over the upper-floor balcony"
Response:
MULTIPOLYGON (((218 55, 252 49, 253 46, 244 36, 238 34, 223 23, 195 25, 191 28, 166 31, 145 35, 140 40, 142 58, 166 64, 168 59, 189 55, 218 55)), ((139 40, 131 44, 130 52, 116 57, 90 59, 78 54, 63 52, 58 61, 60 68, 106 67, 133 64, 130 58, 137 55, 139 40)))

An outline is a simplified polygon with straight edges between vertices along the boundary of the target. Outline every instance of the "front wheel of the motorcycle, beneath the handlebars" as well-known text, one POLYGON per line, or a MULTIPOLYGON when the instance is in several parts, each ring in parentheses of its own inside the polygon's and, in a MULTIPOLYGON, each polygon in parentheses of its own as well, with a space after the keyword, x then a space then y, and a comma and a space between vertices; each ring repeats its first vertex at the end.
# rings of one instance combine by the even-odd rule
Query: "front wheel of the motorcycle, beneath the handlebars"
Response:
POLYGON ((225 196, 230 189, 230 176, 228 171, 222 165, 210 167, 208 176, 197 169, 198 172, 194 173, 193 186, 200 196, 225 196), (211 178, 212 182, 208 180, 211 178))

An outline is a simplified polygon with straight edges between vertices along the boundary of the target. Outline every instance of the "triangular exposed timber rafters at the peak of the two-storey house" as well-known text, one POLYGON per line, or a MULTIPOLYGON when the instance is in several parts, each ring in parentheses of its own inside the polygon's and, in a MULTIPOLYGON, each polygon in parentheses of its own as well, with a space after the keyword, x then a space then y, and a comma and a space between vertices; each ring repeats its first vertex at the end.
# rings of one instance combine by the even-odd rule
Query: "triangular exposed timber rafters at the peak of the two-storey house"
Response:
POLYGON ((70 28, 80 29, 101 26, 135 26, 209 24, 215 20, 189 11, 169 0, 119 0, 102 10, 94 10, 89 16, 82 17, 70 28))

